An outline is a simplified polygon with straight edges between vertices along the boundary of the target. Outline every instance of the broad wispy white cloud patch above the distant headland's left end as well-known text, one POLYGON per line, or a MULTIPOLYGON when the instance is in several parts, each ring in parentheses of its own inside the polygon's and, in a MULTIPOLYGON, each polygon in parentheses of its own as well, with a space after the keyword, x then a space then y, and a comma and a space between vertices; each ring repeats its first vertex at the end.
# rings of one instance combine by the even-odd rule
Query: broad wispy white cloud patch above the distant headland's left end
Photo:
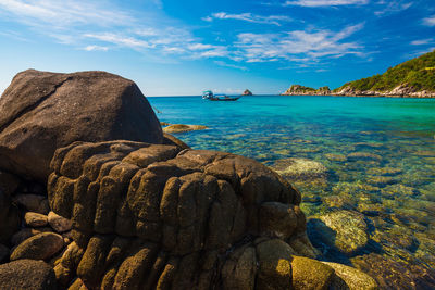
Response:
POLYGON ((307 61, 307 58, 362 55, 360 45, 341 40, 362 29, 363 26, 363 24, 357 24, 337 33, 296 30, 283 34, 239 34, 236 46, 247 62, 277 61, 279 59, 307 61))

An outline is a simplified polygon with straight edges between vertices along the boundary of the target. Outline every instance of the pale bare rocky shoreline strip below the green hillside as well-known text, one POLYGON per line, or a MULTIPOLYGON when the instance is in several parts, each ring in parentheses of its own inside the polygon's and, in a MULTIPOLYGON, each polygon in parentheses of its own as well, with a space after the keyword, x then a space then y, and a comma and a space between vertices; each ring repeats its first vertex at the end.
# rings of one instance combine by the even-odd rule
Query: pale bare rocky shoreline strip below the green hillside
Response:
POLYGON ((435 98, 435 91, 418 90, 407 84, 401 84, 391 90, 358 90, 345 86, 333 91, 334 96, 347 97, 396 97, 396 98, 435 98))

